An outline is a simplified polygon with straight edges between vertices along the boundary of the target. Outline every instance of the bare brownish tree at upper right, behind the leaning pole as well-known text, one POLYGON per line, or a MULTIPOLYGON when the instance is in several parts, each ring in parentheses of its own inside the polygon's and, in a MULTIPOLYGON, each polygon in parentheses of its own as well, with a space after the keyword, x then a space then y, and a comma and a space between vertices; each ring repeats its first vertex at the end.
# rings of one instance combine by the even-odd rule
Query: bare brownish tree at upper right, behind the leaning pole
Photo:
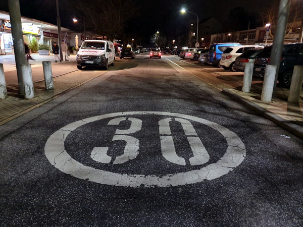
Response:
MULTIPOLYGON (((269 35, 272 39, 275 36, 276 23, 278 21, 279 1, 275 1, 265 12, 261 14, 262 21, 265 24, 270 23, 271 29, 269 35)), ((293 28, 303 19, 303 1, 290 0, 290 11, 285 36, 292 32, 293 28)))

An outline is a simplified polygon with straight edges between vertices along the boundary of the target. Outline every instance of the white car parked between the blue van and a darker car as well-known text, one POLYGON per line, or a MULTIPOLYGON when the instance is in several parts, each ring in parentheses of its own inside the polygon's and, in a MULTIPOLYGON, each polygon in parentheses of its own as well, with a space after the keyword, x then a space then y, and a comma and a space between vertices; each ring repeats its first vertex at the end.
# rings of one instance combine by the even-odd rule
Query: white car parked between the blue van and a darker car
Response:
POLYGON ((262 47, 263 46, 257 46, 257 45, 229 46, 222 53, 219 65, 222 66, 225 70, 231 70, 232 72, 236 72, 233 66, 235 64, 237 56, 240 56, 247 49, 262 48, 262 47))

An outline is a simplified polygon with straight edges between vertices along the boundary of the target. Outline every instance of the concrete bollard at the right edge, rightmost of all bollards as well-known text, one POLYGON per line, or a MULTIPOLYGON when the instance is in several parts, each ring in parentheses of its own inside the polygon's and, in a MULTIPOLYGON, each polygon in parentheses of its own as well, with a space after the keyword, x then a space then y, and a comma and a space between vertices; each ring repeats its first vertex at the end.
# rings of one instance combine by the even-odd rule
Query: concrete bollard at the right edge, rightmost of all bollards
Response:
POLYGON ((298 103, 303 83, 303 66, 295 66, 291 77, 288 102, 298 103))

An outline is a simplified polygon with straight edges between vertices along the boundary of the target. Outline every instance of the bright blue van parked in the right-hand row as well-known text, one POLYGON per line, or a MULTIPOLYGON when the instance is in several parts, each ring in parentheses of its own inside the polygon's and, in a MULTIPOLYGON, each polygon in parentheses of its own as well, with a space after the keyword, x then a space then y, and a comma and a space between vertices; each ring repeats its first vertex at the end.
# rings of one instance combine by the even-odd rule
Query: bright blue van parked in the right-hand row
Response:
POLYGON ((208 63, 213 66, 219 66, 221 55, 229 46, 240 46, 240 43, 226 42, 226 43, 214 43, 210 46, 208 63))

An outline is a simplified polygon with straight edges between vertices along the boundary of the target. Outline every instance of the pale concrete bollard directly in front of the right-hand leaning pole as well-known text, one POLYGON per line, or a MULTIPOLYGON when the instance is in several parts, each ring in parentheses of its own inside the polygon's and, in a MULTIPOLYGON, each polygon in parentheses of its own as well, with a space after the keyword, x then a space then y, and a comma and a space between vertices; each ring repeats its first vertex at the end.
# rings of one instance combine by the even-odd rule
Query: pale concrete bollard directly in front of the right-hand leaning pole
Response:
POLYGON ((275 78, 276 71, 277 71, 277 66, 271 66, 271 65, 266 66, 264 82, 262 87, 262 95, 261 95, 261 101, 263 102, 271 102, 274 85, 275 83, 277 83, 275 78))

